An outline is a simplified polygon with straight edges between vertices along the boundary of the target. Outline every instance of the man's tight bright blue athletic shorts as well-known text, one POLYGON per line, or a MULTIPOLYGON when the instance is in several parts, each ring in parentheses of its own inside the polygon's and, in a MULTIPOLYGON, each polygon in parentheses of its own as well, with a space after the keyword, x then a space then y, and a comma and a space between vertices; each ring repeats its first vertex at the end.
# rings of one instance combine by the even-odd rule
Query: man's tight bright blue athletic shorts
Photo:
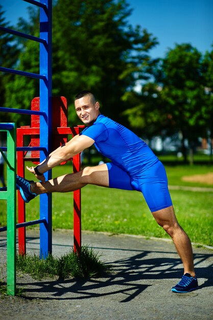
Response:
POLYGON ((113 163, 106 165, 109 172, 109 188, 142 192, 151 212, 172 205, 167 174, 160 161, 133 178, 113 163))

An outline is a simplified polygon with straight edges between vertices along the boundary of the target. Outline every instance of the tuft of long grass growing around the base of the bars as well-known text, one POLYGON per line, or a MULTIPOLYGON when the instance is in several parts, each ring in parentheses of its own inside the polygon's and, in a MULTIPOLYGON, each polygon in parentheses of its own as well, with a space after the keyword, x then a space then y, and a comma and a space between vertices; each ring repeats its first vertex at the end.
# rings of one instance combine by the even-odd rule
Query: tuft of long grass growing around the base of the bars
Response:
POLYGON ((74 251, 55 258, 48 255, 46 259, 40 259, 35 255, 17 255, 17 270, 28 273, 32 278, 41 280, 45 278, 87 278, 100 276, 109 267, 100 261, 100 256, 92 248, 82 246, 81 253, 78 255, 74 251))

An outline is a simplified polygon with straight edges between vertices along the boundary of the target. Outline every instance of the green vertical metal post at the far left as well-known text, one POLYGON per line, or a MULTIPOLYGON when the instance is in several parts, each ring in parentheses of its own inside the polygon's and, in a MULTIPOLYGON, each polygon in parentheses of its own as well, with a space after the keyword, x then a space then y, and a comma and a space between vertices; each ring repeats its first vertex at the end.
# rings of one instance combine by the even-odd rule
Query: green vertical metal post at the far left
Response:
POLYGON ((16 291, 16 124, 7 132, 7 293, 16 291))

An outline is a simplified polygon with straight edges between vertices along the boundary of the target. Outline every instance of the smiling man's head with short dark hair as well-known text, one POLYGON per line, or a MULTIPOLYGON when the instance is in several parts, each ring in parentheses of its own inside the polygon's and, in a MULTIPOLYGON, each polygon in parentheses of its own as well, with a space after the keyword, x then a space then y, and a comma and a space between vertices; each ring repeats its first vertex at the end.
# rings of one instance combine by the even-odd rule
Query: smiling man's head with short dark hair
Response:
POLYGON ((92 95, 75 100, 77 116, 88 126, 91 126, 100 115, 99 107, 99 102, 96 102, 92 95))

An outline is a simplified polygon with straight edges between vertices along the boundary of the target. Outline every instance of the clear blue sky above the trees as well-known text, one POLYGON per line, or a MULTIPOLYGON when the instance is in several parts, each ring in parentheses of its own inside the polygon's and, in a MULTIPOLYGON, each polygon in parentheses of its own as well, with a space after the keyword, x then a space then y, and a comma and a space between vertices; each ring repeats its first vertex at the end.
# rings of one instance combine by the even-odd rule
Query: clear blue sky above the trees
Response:
MULTIPOLYGON (((152 57, 163 57, 175 43, 191 43, 204 53, 213 43, 213 0, 127 0, 133 9, 129 22, 146 28, 158 38, 152 57)), ((28 18, 22 0, 0 0, 5 16, 14 25, 18 17, 28 18)), ((72 0, 70 0, 72 4, 72 0)))

